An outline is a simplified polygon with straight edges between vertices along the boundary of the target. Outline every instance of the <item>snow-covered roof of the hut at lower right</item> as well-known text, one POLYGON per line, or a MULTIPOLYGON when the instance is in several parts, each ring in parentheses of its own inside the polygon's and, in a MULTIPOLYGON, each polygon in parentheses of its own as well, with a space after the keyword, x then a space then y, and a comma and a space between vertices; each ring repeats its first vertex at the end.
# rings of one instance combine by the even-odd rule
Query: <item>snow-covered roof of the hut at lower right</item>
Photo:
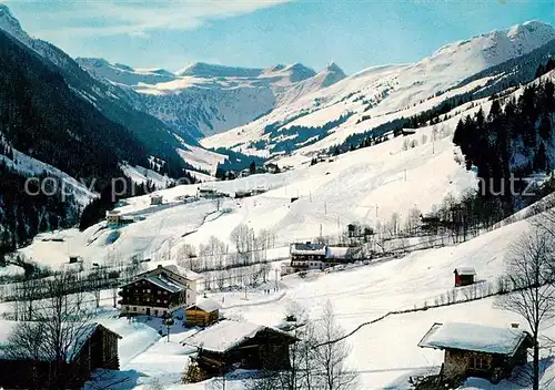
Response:
POLYGON ((513 356, 527 336, 526 331, 515 328, 462 322, 434 324, 418 347, 513 356))

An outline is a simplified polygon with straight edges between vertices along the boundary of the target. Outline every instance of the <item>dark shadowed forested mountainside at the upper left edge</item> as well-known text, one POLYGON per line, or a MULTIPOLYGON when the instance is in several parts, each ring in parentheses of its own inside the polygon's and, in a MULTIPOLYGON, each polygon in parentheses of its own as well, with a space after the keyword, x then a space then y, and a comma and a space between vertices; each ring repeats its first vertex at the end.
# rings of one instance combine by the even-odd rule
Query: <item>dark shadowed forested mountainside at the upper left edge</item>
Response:
POLYGON ((118 158, 148 166, 144 147, 107 120, 29 50, 0 32, 0 132, 14 148, 77 178, 118 173, 118 158))

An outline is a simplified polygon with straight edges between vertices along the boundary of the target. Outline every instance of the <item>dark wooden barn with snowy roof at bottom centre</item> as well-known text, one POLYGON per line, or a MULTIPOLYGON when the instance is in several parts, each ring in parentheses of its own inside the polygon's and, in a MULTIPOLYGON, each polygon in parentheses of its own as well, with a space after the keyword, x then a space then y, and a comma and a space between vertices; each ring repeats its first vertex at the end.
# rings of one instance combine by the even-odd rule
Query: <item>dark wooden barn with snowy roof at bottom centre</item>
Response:
POLYGON ((289 348, 294 342, 284 331, 233 320, 222 320, 183 341, 198 348, 194 361, 201 378, 235 369, 287 370, 289 348))

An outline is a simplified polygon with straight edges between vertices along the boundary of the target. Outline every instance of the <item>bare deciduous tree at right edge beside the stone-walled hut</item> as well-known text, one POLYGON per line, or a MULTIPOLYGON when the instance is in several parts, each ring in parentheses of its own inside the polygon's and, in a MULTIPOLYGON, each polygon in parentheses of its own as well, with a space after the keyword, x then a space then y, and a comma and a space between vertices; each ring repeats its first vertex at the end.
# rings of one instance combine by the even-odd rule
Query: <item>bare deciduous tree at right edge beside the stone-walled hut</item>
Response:
POLYGON ((497 301, 498 307, 521 315, 531 329, 534 346, 527 379, 534 390, 539 389, 539 329, 555 318, 554 263, 551 236, 541 229, 523 236, 507 257, 506 280, 513 291, 497 301))

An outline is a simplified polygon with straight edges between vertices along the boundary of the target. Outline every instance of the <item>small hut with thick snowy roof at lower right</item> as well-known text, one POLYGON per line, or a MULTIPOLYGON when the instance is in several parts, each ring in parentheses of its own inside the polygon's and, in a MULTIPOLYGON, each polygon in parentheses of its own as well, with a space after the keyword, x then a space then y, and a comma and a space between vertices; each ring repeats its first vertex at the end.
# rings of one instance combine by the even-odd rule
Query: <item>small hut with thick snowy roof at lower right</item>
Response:
POLYGON ((452 322, 434 324, 418 347, 445 351, 441 372, 445 382, 478 377, 497 383, 526 365, 533 340, 518 328, 452 322))

